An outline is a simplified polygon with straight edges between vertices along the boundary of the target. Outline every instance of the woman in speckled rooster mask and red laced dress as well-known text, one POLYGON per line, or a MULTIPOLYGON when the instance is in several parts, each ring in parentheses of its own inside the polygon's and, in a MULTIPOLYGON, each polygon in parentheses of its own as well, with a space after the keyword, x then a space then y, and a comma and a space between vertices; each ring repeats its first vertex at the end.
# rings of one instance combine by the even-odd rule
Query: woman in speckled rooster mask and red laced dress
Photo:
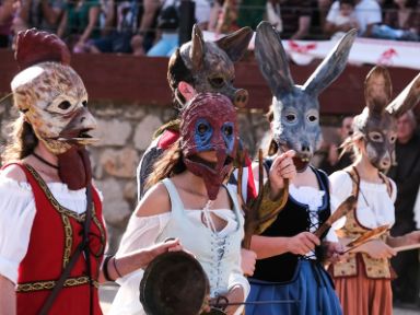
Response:
POLYGON ((19 33, 15 58, 20 116, 0 171, 0 314, 102 314, 98 282, 144 268, 179 242, 102 265, 106 230, 85 149, 96 122, 84 84, 56 35, 19 33))

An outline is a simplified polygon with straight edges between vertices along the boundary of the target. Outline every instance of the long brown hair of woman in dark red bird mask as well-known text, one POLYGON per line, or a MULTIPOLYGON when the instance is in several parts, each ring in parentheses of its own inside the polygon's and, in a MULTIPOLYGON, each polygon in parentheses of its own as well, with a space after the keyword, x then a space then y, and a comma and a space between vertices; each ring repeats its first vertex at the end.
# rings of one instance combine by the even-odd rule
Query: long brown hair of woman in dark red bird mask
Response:
POLYGON ((175 174, 180 174, 187 167, 183 161, 183 151, 180 150, 180 139, 162 154, 153 165, 153 172, 149 175, 145 182, 145 188, 149 189, 160 180, 171 177, 175 174))

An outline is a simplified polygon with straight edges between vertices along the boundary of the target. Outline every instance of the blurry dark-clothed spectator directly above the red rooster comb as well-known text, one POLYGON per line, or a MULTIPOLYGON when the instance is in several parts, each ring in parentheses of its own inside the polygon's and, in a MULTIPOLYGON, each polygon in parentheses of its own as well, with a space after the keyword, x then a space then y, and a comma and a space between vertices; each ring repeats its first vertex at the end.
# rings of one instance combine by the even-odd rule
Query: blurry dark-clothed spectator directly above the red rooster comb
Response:
POLYGON ((18 16, 13 21, 14 33, 38 28, 57 33, 66 8, 65 0, 22 0, 18 16))

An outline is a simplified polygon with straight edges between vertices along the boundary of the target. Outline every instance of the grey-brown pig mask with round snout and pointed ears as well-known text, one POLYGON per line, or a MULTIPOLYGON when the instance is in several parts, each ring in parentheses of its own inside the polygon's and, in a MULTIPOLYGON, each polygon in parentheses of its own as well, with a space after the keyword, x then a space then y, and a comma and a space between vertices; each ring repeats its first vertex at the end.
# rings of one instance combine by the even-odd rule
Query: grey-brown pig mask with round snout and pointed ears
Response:
POLYGON ((233 86, 233 62, 243 57, 252 37, 253 30, 243 27, 217 42, 205 42, 200 28, 195 25, 191 40, 179 49, 185 66, 191 71, 195 90, 224 94, 236 107, 244 107, 248 92, 233 86))

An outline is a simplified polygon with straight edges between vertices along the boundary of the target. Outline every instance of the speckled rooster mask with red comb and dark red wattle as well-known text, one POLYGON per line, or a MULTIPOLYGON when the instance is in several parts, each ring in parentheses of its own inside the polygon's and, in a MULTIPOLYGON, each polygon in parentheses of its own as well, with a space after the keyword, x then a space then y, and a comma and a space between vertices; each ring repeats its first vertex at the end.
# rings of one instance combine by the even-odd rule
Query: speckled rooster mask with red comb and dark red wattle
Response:
MULTIPOLYGON (((85 165, 89 159, 82 149, 96 140, 89 136, 96 122, 86 107, 83 82, 69 66, 66 44, 56 35, 28 30, 18 35, 15 58, 22 71, 11 82, 14 105, 36 137, 59 158, 59 164, 72 165, 67 159, 70 156, 73 161, 75 156, 74 163, 90 172, 90 165, 85 165)), ((90 175, 75 179, 75 184, 69 172, 59 170, 70 189, 84 187, 89 182, 90 175)))

